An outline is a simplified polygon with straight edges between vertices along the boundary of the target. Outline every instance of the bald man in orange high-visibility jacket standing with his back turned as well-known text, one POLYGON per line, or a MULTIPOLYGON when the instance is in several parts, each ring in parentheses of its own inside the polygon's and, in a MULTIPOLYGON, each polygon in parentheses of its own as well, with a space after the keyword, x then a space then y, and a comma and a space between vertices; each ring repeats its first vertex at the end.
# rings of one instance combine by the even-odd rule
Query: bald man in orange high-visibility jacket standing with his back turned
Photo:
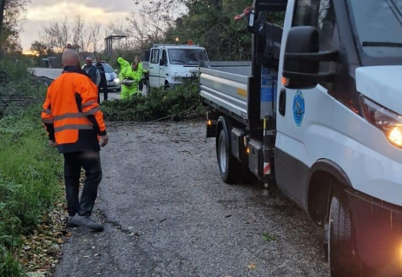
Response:
POLYGON ((64 155, 67 226, 101 231, 103 225, 90 216, 102 180, 99 145, 106 146, 109 138, 97 103, 97 87, 79 68, 78 53, 67 49, 62 60, 64 71, 47 90, 42 121, 49 145, 64 155), (85 183, 78 200, 81 167, 85 170, 85 183))

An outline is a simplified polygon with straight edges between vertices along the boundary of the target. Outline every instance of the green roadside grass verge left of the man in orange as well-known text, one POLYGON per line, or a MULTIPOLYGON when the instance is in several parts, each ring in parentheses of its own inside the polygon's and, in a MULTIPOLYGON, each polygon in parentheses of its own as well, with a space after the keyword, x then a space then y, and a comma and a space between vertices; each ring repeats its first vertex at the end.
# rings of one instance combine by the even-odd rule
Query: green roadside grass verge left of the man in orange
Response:
POLYGON ((12 77, 0 93, 12 99, 0 110, 0 277, 24 276, 16 258, 21 236, 30 234, 62 197, 62 157, 47 146, 40 121, 45 87, 24 67, 7 67, 12 77), (25 98, 19 101, 21 95, 25 98))

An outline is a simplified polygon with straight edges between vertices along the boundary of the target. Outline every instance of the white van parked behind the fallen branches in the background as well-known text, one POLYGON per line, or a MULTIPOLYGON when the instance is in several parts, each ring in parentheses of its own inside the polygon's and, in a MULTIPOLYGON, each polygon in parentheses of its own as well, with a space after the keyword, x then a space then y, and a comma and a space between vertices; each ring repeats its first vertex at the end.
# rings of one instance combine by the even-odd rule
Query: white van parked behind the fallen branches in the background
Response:
POLYGON ((209 61, 204 47, 196 45, 154 44, 145 54, 143 67, 149 73, 148 87, 173 87, 186 78, 198 75, 198 63, 209 61))

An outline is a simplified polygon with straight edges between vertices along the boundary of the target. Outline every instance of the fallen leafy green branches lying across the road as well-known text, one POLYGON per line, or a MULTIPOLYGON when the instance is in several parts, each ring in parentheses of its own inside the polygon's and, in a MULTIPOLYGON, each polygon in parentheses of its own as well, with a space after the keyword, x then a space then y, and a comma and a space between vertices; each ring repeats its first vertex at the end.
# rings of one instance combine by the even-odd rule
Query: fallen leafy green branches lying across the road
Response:
POLYGON ((105 118, 115 121, 180 120, 198 116, 203 110, 197 80, 187 81, 173 89, 152 88, 146 96, 102 103, 105 118))

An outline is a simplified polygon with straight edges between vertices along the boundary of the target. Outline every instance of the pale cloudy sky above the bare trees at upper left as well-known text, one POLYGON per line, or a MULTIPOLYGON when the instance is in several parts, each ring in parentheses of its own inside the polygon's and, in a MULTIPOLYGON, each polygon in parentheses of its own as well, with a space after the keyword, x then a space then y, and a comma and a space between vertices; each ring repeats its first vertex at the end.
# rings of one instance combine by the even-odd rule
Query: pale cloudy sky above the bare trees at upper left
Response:
MULTIPOLYGON (((134 0, 31 0, 21 33, 21 44, 24 50, 28 50, 32 42, 38 39, 41 25, 54 18, 62 18, 64 14, 72 19, 81 15, 86 22, 106 25, 110 20, 125 19, 131 11, 138 13, 139 9, 134 0)), ((103 30, 101 32, 105 34, 103 30)))

